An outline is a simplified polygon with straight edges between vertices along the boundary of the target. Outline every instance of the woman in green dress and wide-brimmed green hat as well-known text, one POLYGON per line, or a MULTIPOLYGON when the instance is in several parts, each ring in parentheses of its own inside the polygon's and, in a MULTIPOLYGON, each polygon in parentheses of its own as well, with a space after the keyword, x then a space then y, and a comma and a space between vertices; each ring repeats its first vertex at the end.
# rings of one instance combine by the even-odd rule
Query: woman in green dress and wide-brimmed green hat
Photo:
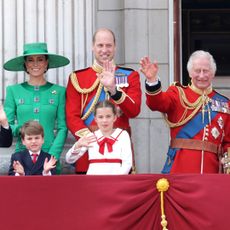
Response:
POLYGON ((48 53, 46 43, 25 44, 22 56, 4 64, 5 70, 25 71, 29 76, 28 81, 6 89, 4 108, 17 137, 15 152, 25 149, 20 138, 21 126, 28 120, 36 120, 45 132, 42 149, 57 160, 60 158, 67 136, 65 87, 48 82, 45 73, 67 64, 68 58, 48 53))

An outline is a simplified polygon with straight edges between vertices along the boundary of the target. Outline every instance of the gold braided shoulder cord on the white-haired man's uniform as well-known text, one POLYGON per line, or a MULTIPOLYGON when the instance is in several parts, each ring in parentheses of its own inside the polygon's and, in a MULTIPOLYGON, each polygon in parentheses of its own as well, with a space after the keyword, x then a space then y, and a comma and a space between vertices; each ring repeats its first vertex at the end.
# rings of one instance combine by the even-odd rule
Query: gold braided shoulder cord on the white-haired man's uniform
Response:
POLYGON ((179 126, 187 123, 189 120, 191 120, 195 116, 195 114, 199 111, 199 109, 203 105, 202 96, 200 96, 195 102, 191 103, 188 101, 183 89, 181 87, 178 87, 178 86, 176 86, 176 87, 179 91, 179 98, 180 98, 181 105, 185 108, 185 110, 184 110, 184 113, 181 116, 180 120, 178 122, 175 122, 175 123, 169 121, 167 115, 163 114, 164 119, 170 128, 179 127, 179 126), (193 112, 188 117, 186 117, 188 110, 193 110, 193 112))

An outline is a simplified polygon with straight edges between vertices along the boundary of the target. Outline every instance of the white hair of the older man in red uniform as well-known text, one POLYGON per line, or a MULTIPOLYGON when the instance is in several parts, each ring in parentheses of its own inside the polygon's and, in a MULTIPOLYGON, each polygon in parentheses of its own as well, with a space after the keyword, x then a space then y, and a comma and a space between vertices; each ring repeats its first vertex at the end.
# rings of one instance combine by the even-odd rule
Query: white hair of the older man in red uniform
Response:
POLYGON ((191 56, 189 57, 188 63, 187 63, 188 72, 190 73, 192 71, 193 62, 196 58, 199 58, 199 57, 205 57, 209 60, 211 70, 212 70, 213 74, 215 75, 215 73, 216 73, 216 62, 215 62, 213 56, 209 52, 203 51, 203 50, 197 50, 191 54, 191 56))

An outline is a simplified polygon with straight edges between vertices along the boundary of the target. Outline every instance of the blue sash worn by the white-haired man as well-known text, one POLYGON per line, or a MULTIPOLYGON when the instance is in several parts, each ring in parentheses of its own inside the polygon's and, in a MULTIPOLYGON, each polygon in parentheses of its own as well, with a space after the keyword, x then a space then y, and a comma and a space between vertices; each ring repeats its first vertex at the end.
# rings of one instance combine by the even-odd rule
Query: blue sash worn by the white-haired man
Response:
MULTIPOLYGON (((212 99, 221 99, 223 100, 224 97, 222 97, 219 94, 215 94, 212 99)), ((226 100, 226 98, 224 98, 226 100)), ((206 105, 207 106, 207 105, 206 105)), ((209 105, 210 108, 210 105, 209 105)), ((216 111, 210 111, 211 112, 211 121, 215 118, 215 116, 218 114, 216 111)), ((195 115, 176 135, 176 138, 186 138, 186 139, 192 139, 196 134, 198 134, 204 127, 209 123, 208 114, 205 114, 204 122, 202 123, 202 112, 198 112, 197 115, 195 115)), ((179 149, 178 148, 170 148, 168 149, 167 153, 167 159, 165 162, 165 165, 163 167, 162 173, 170 173, 170 170, 172 168, 176 153, 179 149)))

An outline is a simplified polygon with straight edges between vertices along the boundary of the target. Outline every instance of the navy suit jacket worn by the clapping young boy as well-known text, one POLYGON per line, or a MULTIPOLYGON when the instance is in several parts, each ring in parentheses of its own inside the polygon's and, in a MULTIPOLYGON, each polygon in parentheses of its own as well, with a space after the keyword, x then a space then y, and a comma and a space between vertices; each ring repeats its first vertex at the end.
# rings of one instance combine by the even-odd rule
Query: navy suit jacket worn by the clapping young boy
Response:
MULTIPOLYGON (((14 176, 15 172, 14 172, 14 168, 13 168, 13 162, 14 161, 19 161, 22 166, 24 167, 24 171, 25 171, 25 175, 42 175, 43 172, 43 165, 44 165, 44 161, 46 159, 46 157, 48 159, 50 159, 51 155, 49 153, 46 153, 44 151, 41 151, 36 163, 34 164, 32 162, 31 156, 29 151, 26 149, 24 151, 21 152, 16 152, 14 154, 12 154, 11 156, 11 162, 10 162, 10 168, 9 168, 9 175, 14 176)), ((54 175, 56 174, 56 169, 52 169, 51 170, 51 174, 54 175)))

